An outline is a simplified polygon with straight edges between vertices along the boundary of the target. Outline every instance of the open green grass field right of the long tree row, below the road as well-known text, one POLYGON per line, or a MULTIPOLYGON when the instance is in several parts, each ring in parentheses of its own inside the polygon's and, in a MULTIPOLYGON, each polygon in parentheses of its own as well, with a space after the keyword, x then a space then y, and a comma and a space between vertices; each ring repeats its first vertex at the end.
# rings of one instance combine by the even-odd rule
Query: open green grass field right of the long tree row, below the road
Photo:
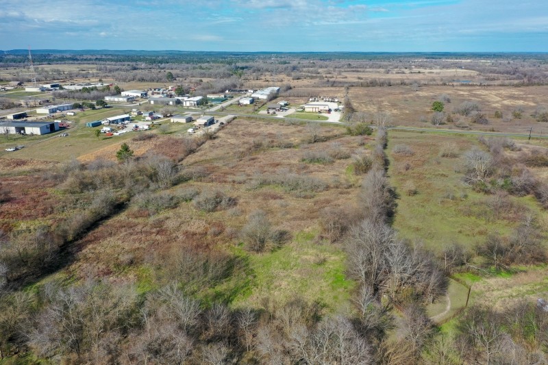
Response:
MULTIPOLYGON (((455 144, 461 156, 479 146, 476 136, 390 132, 388 151, 403 144, 413 152, 389 153, 389 174, 399 194, 394 227, 403 238, 421 240, 434 251, 451 242, 473 247, 488 234, 508 234, 517 225, 512 214, 495 216, 485 208, 488 195, 474 192, 462 182, 462 157, 440 157, 445 143, 455 144), (410 189, 416 192, 410 195, 410 189)), ((532 197, 511 199, 540 213, 532 197)))

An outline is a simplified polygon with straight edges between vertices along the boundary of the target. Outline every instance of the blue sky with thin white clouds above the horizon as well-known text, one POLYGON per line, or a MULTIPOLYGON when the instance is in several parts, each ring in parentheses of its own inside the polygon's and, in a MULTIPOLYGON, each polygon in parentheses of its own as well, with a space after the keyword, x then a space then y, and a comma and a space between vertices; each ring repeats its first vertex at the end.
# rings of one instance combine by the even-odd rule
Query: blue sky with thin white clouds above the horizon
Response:
POLYGON ((548 0, 0 0, 0 49, 546 52, 548 0))

